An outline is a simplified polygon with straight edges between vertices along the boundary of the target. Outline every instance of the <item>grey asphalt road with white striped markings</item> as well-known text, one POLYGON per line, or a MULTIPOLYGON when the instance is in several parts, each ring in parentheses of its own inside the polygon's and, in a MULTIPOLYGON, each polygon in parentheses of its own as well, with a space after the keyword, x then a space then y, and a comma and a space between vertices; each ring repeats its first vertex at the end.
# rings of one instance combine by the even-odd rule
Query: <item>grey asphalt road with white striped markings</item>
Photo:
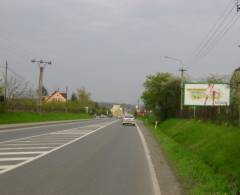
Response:
POLYGON ((0 132, 1 195, 154 195, 137 128, 98 120, 0 132))

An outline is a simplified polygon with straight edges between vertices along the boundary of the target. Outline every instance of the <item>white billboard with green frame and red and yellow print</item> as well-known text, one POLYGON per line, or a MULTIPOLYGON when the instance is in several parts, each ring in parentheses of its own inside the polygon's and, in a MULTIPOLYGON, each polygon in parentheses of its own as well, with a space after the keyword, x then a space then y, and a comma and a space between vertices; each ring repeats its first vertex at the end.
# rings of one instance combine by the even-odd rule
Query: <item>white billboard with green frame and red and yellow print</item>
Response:
POLYGON ((230 87, 227 84, 185 84, 184 105, 228 106, 230 87))

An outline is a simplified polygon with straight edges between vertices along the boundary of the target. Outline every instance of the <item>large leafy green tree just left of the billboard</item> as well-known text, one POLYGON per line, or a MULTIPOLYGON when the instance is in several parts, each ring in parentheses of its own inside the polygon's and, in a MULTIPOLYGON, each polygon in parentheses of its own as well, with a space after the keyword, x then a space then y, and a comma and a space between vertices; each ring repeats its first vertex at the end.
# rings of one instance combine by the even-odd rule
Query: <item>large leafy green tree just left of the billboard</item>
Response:
POLYGON ((147 76, 142 100, 160 119, 176 117, 180 107, 180 79, 170 73, 147 76))

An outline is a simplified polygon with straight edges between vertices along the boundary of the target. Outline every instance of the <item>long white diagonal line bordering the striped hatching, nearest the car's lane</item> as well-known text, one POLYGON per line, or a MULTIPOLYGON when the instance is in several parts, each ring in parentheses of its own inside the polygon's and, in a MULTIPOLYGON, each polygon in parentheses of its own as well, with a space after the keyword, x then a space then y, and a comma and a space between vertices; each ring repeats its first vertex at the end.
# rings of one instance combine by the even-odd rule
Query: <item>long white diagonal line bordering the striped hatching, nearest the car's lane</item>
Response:
MULTIPOLYGON (((28 163, 30 163, 30 162, 32 162, 32 161, 34 161, 34 160, 37 160, 37 159, 39 159, 39 158, 41 158, 41 157, 43 157, 43 156, 46 156, 46 155, 48 155, 48 154, 50 154, 50 153, 52 153, 52 152, 55 152, 55 151, 57 151, 57 150, 60 150, 60 149, 62 149, 62 148, 64 148, 64 147, 66 147, 66 146, 68 146, 68 145, 70 145, 70 144, 72 144, 72 143, 74 143, 74 142, 77 142, 77 141, 79 141, 79 140, 81 140, 81 139, 83 139, 83 138, 85 138, 85 137, 87 137, 87 136, 89 136, 89 135, 91 135, 91 134, 93 134, 93 133, 96 133, 97 131, 99 131, 99 130, 101 130, 101 129, 104 129, 105 127, 110 126, 110 125, 112 125, 113 123, 116 123, 116 122, 118 122, 118 121, 112 121, 112 122, 106 124, 105 126, 101 126, 101 127, 97 128, 96 130, 91 131, 91 132, 88 133, 88 134, 85 134, 85 135, 80 136, 80 137, 78 137, 78 138, 76 138, 76 139, 73 139, 72 141, 67 142, 67 143, 65 143, 65 144, 63 144, 63 145, 60 145, 60 146, 58 146, 58 147, 56 147, 56 148, 54 148, 54 149, 52 149, 52 150, 50 150, 50 151, 47 151, 47 152, 45 152, 45 153, 43 153, 43 154, 41 154, 41 155, 38 155, 38 156, 32 157, 32 158, 27 158, 27 160, 25 160, 25 161, 23 161, 23 162, 21 162, 21 163, 18 163, 18 164, 16 164, 16 165, 12 166, 12 167, 7 168, 7 169, 1 170, 1 171, 0 171, 0 174, 4 174, 4 173, 6 173, 6 172, 8 172, 8 171, 11 171, 11 170, 16 169, 16 168, 18 168, 18 167, 21 167, 21 166, 23 166, 23 165, 25 165, 25 164, 28 164, 28 163)), ((16 158, 16 159, 17 159, 17 158, 16 158)), ((18 158, 18 159, 20 159, 20 158, 18 158)))

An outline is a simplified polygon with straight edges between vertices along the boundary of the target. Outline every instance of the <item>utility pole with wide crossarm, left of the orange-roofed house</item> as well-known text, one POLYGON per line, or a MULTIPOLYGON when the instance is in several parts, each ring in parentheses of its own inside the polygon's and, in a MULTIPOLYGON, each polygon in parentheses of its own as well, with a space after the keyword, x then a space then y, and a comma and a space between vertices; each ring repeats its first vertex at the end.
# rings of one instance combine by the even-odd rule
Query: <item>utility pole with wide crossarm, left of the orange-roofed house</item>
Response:
POLYGON ((39 66, 39 80, 38 80, 38 111, 41 113, 42 112, 42 88, 43 88, 43 72, 44 72, 44 68, 45 66, 51 65, 52 62, 51 61, 43 61, 43 60, 35 60, 33 59, 31 61, 32 63, 38 63, 39 66))

